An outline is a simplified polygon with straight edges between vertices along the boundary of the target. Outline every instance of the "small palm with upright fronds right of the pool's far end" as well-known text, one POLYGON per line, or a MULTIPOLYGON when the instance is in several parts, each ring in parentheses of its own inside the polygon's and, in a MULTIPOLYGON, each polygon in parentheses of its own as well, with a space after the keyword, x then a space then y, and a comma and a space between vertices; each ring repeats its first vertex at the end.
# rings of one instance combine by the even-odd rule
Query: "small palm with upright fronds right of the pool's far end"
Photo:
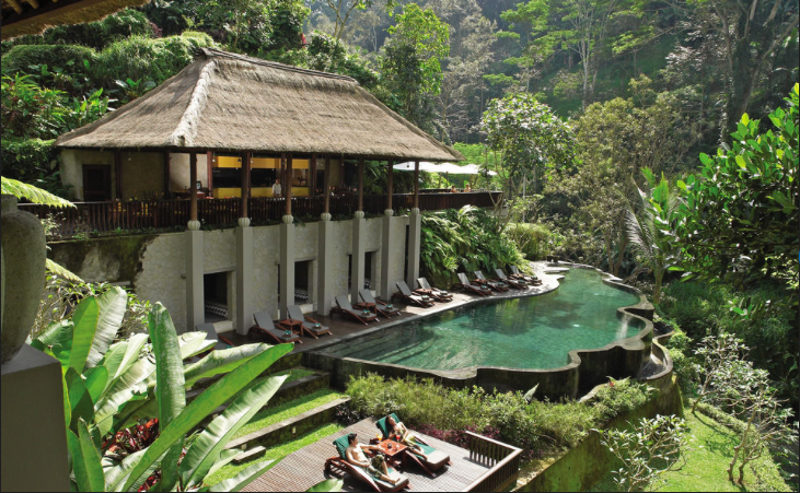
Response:
POLYGON ((671 192, 670 184, 663 174, 658 185, 649 168, 642 169, 642 174, 650 185, 650 191, 639 189, 638 213, 628 210, 625 225, 630 246, 638 254, 639 261, 653 273, 652 302, 658 305, 661 301, 664 273, 676 263, 677 259, 679 247, 674 226, 679 220, 680 198, 671 192))

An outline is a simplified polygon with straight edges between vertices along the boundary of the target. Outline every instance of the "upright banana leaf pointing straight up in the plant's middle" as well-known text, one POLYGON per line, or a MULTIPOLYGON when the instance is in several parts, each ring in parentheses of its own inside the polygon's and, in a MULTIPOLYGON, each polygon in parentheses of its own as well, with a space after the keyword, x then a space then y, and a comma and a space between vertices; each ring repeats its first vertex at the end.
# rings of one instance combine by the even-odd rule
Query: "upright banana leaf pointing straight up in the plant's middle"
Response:
MULTIPOLYGON (((177 333, 164 305, 156 303, 148 316, 150 340, 155 354, 155 397, 159 404, 159 425, 169 427, 186 407, 184 368, 177 333)), ((161 462, 161 491, 172 491, 177 482, 177 460, 183 450, 183 438, 172 445, 161 462)))

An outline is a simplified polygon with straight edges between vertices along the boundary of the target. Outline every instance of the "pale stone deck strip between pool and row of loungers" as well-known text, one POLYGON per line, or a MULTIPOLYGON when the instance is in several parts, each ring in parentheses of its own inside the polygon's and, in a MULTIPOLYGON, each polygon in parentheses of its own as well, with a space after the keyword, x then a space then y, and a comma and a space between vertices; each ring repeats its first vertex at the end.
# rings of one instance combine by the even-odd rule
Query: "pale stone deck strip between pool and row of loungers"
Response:
MULTIPOLYGON (((430 308, 421 308, 418 306, 406 305, 403 302, 394 303, 401 310, 401 315, 393 316, 391 318, 379 316, 379 321, 363 325, 359 321, 346 315, 329 315, 326 317, 318 316, 315 313, 306 314, 311 318, 320 321, 331 328, 332 336, 322 336, 320 339, 305 336, 302 338, 302 344, 294 344, 292 353, 302 353, 305 351, 318 349, 324 345, 332 344, 334 342, 340 342, 348 340, 353 337, 359 337, 364 333, 370 333, 376 329, 384 329, 398 324, 406 324, 411 320, 425 318, 432 314, 444 312, 460 306, 464 306, 475 300, 506 300, 514 297, 526 297, 526 296, 538 296, 541 294, 549 293, 558 287, 558 280, 563 277, 564 272, 569 270, 568 268, 554 268, 548 267, 549 263, 544 261, 531 262, 536 275, 542 280, 542 285, 527 286, 523 290, 510 289, 506 293, 492 293, 490 296, 479 296, 475 294, 462 293, 460 291, 453 291, 453 301, 450 303, 436 303, 430 308)), ((221 332, 225 339, 229 339, 236 345, 246 344, 252 342, 266 342, 274 344, 274 340, 268 340, 266 337, 258 336, 257 333, 251 332, 250 336, 241 336, 236 332, 221 332)))

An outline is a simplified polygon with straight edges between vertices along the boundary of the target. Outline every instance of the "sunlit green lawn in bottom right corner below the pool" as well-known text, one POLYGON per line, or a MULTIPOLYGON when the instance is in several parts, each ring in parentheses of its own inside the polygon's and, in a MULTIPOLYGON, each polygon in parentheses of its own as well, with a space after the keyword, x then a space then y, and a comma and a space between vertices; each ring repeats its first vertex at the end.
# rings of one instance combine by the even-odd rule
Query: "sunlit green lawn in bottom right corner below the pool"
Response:
MULTIPOLYGON (((778 466, 764 456, 745 467, 744 484, 728 481, 728 465, 733 457, 737 435, 729 427, 703 414, 693 415, 686 409, 686 421, 692 437, 686 466, 679 471, 665 472, 663 482, 656 491, 791 491, 780 477, 778 466)), ((734 478, 739 474, 734 468, 734 478)), ((606 474, 591 491, 618 491, 606 474)))

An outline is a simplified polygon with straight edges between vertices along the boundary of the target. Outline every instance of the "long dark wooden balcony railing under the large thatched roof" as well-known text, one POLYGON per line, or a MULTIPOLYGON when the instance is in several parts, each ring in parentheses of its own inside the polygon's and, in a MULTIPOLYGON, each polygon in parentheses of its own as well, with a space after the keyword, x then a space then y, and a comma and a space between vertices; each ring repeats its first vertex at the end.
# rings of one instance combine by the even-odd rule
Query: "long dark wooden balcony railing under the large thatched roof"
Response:
MULTIPOLYGON (((494 207, 501 199, 497 191, 469 193, 420 193, 419 209, 438 211, 460 209, 471 204, 480 208, 494 207)), ((292 215, 298 218, 318 218, 325 201, 323 197, 294 197, 292 215)), ((411 209, 411 193, 395 193, 392 207, 411 209)), ((207 226, 234 226, 240 218, 241 199, 200 199, 197 201, 197 219, 207 226)), ((189 221, 189 201, 177 200, 129 200, 124 202, 76 202, 76 208, 56 209, 36 203, 21 203, 20 209, 28 211, 39 219, 50 216, 55 237, 72 237, 79 233, 105 233, 112 231, 164 230, 182 228, 189 221)), ((356 195, 337 195, 331 197, 331 213, 334 215, 351 215, 358 209, 356 195)), ((366 196, 364 212, 382 214, 386 209, 386 196, 366 196)), ((247 215, 253 223, 268 224, 280 221, 286 212, 286 199, 275 197, 254 197, 247 202, 247 215)))

